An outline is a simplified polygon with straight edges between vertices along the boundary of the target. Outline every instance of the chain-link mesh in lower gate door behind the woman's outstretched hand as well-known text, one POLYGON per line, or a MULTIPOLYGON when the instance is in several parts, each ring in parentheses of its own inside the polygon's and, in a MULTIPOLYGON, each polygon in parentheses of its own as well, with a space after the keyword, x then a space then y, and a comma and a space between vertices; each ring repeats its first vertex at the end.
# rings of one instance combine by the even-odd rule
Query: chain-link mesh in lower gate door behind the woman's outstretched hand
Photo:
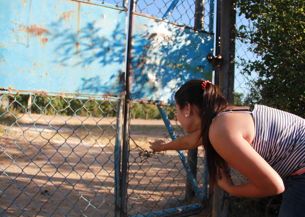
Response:
MULTIPOLYGON (((177 137, 185 135, 176 118, 174 107, 166 109, 177 137)), ((132 110, 131 110, 132 113, 132 110)), ((176 151, 152 153, 149 141, 171 141, 162 120, 137 123, 129 119, 129 161, 127 214, 152 214, 152 212, 192 205, 199 202, 195 196, 186 194, 186 171, 176 151)), ((187 156, 187 152, 185 152, 187 156)), ((199 190, 206 192, 206 165, 204 151, 198 150, 197 183, 199 190)), ((178 211, 178 210, 177 210, 178 211)), ((177 212, 176 211, 176 212, 177 212)))

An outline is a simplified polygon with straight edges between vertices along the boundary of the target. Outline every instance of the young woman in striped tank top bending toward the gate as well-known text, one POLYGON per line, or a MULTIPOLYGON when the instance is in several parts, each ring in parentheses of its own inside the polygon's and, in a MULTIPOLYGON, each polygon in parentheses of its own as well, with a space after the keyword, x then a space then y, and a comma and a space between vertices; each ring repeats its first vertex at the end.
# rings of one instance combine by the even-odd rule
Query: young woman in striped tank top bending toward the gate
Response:
POLYGON ((285 190, 280 216, 305 216, 305 119, 263 105, 231 106, 210 81, 186 82, 175 101, 177 120, 189 134, 150 142, 153 151, 203 145, 210 187, 241 197, 285 190), (234 185, 226 163, 249 182, 234 185))

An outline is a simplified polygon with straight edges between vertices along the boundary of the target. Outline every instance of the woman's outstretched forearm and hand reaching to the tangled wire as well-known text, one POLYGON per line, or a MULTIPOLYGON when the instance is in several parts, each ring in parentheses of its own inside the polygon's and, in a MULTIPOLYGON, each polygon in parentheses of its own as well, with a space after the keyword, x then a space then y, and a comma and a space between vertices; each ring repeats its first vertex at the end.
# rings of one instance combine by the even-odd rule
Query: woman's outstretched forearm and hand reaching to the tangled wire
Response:
POLYGON ((160 152, 166 150, 188 150, 194 149, 202 145, 201 139, 198 139, 200 136, 200 131, 196 131, 195 133, 191 133, 175 139, 169 143, 165 143, 163 140, 158 140, 154 142, 149 142, 150 146, 153 151, 160 152))

